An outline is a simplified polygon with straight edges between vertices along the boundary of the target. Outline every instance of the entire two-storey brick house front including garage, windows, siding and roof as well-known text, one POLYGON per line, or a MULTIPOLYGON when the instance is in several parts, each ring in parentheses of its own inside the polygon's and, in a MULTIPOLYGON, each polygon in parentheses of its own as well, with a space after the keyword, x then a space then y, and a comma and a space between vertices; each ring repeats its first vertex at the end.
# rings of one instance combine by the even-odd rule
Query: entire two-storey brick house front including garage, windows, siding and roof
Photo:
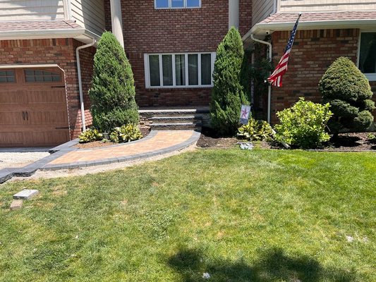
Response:
POLYGON ((139 106, 207 106, 229 27, 246 48, 268 35, 277 63, 298 12, 284 87, 269 93, 273 122, 298 97, 320 101, 317 83, 338 56, 358 63, 375 91, 376 1, 1 1, 0 147, 56 145, 90 126, 87 90, 104 30, 126 51, 139 106))

